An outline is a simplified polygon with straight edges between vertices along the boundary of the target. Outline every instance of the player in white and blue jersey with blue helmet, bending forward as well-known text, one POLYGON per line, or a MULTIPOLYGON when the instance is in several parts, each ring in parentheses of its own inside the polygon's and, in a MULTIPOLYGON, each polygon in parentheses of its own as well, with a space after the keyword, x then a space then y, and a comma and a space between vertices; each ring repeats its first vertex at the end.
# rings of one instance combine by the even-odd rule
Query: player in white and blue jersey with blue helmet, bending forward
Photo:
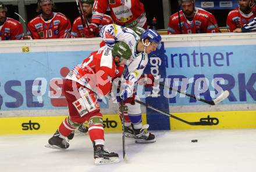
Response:
MULTIPOLYGON (((154 52, 161 46, 161 36, 155 30, 145 30, 141 36, 139 32, 134 32, 130 28, 121 27, 115 24, 109 24, 102 27, 100 35, 106 44, 106 47, 112 47, 115 43, 122 41, 129 45, 132 55, 127 60, 125 72, 119 96, 116 100, 125 103, 125 134, 127 137, 134 137, 135 142, 155 142, 154 134, 148 133, 149 125, 142 125, 142 116, 140 104, 134 103, 136 96, 135 87, 139 81, 143 80, 145 86, 154 85, 154 76, 143 74, 148 63, 148 54, 154 52)), ((121 109, 119 108, 119 111, 121 109)))

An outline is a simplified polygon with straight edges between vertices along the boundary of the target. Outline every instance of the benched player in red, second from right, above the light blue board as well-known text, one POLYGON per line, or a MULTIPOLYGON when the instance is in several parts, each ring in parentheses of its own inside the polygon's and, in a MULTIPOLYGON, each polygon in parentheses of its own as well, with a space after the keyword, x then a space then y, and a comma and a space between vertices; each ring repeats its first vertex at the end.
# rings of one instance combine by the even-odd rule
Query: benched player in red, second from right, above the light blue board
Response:
POLYGON ((219 32, 213 14, 201 8, 195 8, 194 0, 179 0, 182 8, 170 16, 168 34, 200 34, 219 32))

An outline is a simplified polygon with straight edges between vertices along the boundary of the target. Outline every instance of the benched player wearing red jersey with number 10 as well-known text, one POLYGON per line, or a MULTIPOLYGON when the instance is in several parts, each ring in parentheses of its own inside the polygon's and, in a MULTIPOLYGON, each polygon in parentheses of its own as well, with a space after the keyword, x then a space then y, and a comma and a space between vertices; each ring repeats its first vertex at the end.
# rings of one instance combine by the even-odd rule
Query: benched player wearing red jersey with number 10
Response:
POLYGON ((41 13, 27 25, 33 39, 70 38, 71 24, 62 13, 53 12, 52 0, 38 0, 37 12, 41 13))

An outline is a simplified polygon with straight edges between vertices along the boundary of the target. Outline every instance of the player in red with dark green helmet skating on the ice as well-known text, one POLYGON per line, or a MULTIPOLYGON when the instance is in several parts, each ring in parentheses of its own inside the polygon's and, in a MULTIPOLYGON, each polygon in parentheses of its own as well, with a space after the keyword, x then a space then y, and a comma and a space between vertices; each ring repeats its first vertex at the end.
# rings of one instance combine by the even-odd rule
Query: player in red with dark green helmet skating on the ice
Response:
POLYGON ((97 95, 105 96, 111 92, 112 80, 122 75, 123 64, 130 56, 129 46, 119 42, 113 46, 113 49, 91 53, 83 63, 69 72, 63 85, 69 116, 63 120, 46 147, 68 148, 66 137, 68 138, 74 129, 88 121, 95 163, 119 162, 118 154, 109 152, 105 147, 103 120, 97 95))

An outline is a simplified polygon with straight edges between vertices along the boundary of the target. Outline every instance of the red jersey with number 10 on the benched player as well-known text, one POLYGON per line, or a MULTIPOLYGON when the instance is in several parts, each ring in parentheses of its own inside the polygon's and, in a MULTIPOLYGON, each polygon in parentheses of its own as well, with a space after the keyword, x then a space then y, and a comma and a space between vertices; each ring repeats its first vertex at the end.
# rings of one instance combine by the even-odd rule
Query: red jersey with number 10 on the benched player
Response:
POLYGON ((33 39, 69 38, 71 24, 62 13, 54 13, 54 17, 48 21, 40 14, 29 22, 27 28, 33 39))

